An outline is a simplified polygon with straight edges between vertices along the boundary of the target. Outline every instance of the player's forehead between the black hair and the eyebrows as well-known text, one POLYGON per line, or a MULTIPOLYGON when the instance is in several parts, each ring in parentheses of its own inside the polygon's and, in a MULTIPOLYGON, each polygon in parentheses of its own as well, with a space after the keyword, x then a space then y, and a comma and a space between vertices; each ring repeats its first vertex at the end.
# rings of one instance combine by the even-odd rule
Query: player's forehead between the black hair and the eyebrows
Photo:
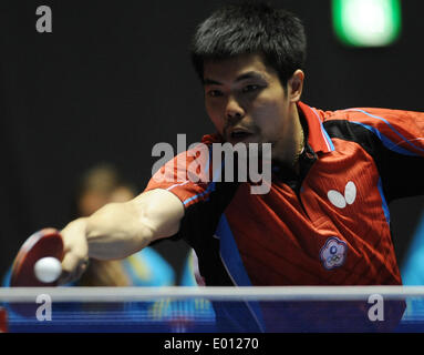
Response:
POLYGON ((235 82, 244 79, 271 81, 277 73, 266 65, 259 53, 240 54, 226 59, 207 59, 204 62, 204 83, 235 82))

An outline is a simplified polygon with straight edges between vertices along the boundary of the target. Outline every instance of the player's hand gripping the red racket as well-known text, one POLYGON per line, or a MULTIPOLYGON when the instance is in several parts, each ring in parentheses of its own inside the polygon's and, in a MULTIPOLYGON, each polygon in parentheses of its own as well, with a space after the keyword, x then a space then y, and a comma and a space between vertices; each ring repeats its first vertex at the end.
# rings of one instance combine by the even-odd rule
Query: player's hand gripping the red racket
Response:
POLYGON ((77 219, 61 231, 64 256, 62 260, 62 275, 58 281, 60 285, 79 280, 87 267, 89 243, 85 230, 86 219, 77 219))

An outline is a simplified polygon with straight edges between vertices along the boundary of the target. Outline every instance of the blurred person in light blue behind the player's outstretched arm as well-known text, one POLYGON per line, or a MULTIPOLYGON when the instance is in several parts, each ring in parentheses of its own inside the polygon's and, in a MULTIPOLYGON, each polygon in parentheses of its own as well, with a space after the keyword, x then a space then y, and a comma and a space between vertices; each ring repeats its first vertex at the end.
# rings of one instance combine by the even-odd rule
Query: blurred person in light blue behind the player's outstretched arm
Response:
MULTIPOLYGON (((136 195, 111 164, 99 164, 83 174, 75 194, 76 216, 87 216, 110 202, 125 202, 136 195)), ((173 267, 152 247, 124 260, 90 260, 79 286, 172 286, 173 267)))

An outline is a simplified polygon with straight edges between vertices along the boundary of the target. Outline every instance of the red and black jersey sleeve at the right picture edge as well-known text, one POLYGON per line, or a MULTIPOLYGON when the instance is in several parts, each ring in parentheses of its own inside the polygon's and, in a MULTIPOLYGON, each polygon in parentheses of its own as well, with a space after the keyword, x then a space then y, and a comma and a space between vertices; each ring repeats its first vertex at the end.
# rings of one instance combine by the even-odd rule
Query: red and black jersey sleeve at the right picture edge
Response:
POLYGON ((424 113, 389 109, 344 110, 378 164, 389 202, 424 194, 424 113))

